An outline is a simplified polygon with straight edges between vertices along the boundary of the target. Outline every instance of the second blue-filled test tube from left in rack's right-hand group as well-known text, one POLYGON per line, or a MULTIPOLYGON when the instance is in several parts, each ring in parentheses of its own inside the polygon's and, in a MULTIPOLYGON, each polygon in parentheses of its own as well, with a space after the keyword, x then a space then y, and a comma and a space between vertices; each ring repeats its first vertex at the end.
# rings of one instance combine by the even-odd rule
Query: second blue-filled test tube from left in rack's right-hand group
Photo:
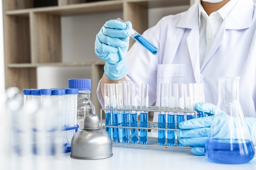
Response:
MULTIPOLYGON (((177 109, 178 106, 178 84, 168 84, 168 107, 171 109, 177 109)), ((168 112, 167 115, 167 128, 175 129, 175 113, 168 112)), ((175 146, 175 131, 167 131, 167 144, 168 146, 175 146)))

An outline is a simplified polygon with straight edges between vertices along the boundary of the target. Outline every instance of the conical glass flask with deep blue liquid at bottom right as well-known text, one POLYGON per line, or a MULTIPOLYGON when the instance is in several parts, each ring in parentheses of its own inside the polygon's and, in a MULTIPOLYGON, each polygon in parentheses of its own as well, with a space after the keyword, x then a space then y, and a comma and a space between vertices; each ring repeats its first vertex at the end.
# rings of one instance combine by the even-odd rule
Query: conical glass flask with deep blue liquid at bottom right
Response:
POLYGON ((255 150, 239 102, 240 77, 218 77, 218 104, 205 155, 216 163, 247 163, 255 150))

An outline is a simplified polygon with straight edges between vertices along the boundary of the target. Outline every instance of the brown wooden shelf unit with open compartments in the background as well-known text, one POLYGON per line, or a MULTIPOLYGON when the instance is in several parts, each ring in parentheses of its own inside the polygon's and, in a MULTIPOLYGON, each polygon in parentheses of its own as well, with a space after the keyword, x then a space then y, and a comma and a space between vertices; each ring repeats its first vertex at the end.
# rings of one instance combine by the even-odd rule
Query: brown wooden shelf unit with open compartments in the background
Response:
POLYGON ((40 66, 91 66, 92 99, 99 115, 96 88, 104 62, 62 62, 61 17, 122 11, 123 19, 142 33, 148 29, 148 9, 189 5, 192 1, 58 0, 58 6, 34 8, 34 0, 3 0, 5 88, 37 88, 36 68, 40 66))

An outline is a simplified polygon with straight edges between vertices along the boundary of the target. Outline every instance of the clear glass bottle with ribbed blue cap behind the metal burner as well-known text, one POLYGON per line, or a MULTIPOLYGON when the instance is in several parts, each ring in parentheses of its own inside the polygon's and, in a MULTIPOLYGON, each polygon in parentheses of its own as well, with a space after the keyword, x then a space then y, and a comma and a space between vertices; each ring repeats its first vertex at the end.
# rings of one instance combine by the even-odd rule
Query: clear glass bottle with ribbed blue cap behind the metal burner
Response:
POLYGON ((92 90, 91 79, 68 79, 68 88, 78 88, 77 95, 77 118, 79 130, 84 128, 85 115, 95 115, 95 105, 90 97, 92 90))

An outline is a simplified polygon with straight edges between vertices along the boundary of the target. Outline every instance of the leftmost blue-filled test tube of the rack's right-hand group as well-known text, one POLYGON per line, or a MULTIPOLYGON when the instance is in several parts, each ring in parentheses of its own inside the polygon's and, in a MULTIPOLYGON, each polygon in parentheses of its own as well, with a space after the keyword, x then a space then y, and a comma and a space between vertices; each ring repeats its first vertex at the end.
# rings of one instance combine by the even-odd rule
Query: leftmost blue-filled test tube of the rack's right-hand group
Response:
MULTIPOLYGON (((158 106, 167 107, 167 83, 159 83, 158 86, 158 106)), ((160 111, 158 113, 158 128, 166 128, 166 112, 160 111)), ((165 130, 158 130, 158 145, 164 146, 166 144, 165 130)))

